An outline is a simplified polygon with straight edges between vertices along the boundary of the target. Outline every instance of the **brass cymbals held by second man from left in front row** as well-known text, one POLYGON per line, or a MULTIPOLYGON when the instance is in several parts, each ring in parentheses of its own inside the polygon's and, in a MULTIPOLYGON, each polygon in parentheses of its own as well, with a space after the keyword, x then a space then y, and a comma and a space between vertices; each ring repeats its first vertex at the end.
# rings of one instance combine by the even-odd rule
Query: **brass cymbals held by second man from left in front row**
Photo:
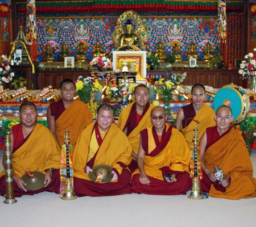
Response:
POLYGON ((92 172, 88 174, 93 182, 108 183, 113 178, 112 167, 108 165, 98 165, 92 167, 92 172))

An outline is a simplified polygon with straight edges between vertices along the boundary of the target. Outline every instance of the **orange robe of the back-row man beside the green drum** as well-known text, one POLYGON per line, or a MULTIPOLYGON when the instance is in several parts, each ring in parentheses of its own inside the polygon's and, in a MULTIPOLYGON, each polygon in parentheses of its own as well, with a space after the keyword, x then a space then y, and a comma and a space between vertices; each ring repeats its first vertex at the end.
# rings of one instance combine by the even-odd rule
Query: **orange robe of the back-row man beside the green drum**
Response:
POLYGON ((199 124, 197 124, 195 121, 191 121, 187 128, 181 129, 182 134, 185 137, 185 140, 187 141, 188 146, 193 146, 193 136, 194 136, 194 129, 197 127, 198 129, 198 141, 200 141, 200 138, 203 136, 205 130, 208 127, 212 127, 216 125, 216 122, 214 121, 214 110, 210 108, 207 105, 203 105, 203 107, 196 113, 196 116, 194 119, 199 120, 199 124))

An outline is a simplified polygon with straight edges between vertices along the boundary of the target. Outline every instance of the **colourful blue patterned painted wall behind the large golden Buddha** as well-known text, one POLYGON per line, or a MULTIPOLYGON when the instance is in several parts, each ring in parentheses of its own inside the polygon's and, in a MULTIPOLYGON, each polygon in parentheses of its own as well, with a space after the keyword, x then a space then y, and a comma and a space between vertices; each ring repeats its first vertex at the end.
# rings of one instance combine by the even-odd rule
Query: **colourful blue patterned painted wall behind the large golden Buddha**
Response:
MULTIPOLYGON (((56 59, 62 43, 66 43, 71 49, 71 56, 75 56, 77 43, 83 41, 88 60, 92 58, 97 41, 104 52, 115 51, 112 35, 117 18, 36 19, 36 23, 39 61, 47 43, 53 48, 56 59)), ((147 31, 145 46, 148 52, 156 50, 159 40, 167 54, 175 44, 179 45, 184 57, 192 42, 196 44, 199 58, 203 57, 203 47, 208 41, 216 52, 220 46, 217 18, 143 18, 142 23, 147 31)))

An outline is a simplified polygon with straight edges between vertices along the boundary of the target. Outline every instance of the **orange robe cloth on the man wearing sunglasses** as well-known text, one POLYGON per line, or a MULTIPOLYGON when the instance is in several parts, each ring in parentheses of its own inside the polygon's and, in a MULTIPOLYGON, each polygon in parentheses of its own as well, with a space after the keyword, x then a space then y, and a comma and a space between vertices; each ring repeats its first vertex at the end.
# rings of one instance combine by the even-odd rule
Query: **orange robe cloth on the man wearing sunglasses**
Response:
MULTIPOLYGON (((166 130, 169 126, 166 124, 166 130)), ((156 148, 155 140, 152 134, 152 127, 147 128, 148 132, 148 153, 156 148)), ((155 157, 144 156, 144 170, 148 176, 164 180, 162 175, 163 167, 169 167, 173 171, 182 171, 189 173, 190 152, 182 134, 176 128, 172 128, 170 141, 166 147, 155 157)), ((133 175, 138 174, 139 169, 135 170, 133 175)))

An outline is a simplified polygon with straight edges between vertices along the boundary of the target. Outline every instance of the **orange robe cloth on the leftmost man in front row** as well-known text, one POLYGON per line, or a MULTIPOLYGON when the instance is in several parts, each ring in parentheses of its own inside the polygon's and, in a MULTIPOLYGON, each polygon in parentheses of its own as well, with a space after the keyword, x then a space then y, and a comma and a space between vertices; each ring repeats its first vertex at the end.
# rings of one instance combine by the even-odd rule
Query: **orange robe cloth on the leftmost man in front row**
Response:
MULTIPOLYGON (((27 141, 13 154, 13 169, 16 176, 23 176, 26 171, 39 171, 49 168, 60 169, 60 148, 51 131, 37 123, 27 141)), ((4 175, 2 171, 0 176, 4 175)))

